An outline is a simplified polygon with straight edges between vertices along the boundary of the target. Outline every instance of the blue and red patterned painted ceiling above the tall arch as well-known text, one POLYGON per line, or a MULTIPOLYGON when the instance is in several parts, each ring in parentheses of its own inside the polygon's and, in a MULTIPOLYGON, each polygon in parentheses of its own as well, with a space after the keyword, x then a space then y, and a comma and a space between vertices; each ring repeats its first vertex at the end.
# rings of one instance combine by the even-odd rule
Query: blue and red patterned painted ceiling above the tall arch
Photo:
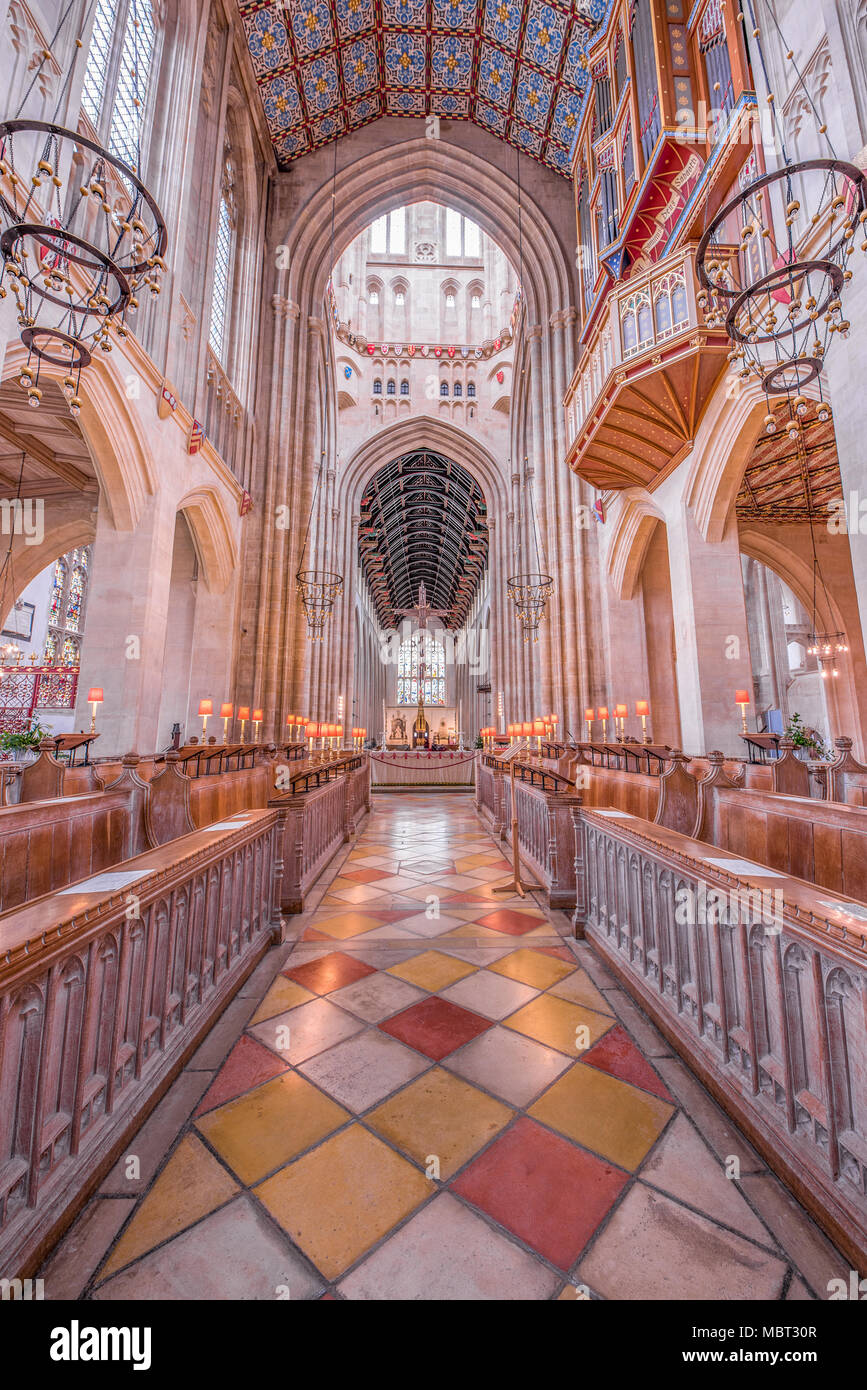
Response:
POLYGON ((568 177, 611 0, 238 0, 281 167, 382 115, 474 121, 568 177))

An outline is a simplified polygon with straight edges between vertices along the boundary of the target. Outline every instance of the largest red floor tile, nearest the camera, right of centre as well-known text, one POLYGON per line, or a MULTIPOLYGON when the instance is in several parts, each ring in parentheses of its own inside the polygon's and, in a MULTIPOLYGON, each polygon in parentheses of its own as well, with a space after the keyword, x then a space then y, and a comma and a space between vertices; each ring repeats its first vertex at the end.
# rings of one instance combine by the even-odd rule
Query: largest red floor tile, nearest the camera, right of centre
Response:
POLYGON ((628 1182, 627 1173, 521 1116, 453 1187, 559 1269, 570 1269, 628 1182))

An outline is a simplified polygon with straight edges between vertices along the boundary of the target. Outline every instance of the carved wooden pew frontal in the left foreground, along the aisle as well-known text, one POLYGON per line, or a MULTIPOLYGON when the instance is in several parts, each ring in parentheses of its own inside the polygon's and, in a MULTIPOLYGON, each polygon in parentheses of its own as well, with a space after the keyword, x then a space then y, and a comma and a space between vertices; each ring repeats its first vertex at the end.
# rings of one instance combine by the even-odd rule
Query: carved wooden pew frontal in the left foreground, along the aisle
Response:
POLYGON ((253 810, 0 916, 4 1277, 35 1270, 279 938, 281 851, 253 810))

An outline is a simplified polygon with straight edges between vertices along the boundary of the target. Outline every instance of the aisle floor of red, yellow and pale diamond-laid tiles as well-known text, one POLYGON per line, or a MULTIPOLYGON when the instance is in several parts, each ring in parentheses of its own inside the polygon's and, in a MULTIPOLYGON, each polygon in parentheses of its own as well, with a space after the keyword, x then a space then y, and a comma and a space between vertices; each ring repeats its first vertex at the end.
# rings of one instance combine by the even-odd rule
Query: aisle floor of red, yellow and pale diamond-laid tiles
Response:
POLYGON ((825 1297, 842 1257, 509 878, 468 795, 378 795, 46 1297, 825 1297))

